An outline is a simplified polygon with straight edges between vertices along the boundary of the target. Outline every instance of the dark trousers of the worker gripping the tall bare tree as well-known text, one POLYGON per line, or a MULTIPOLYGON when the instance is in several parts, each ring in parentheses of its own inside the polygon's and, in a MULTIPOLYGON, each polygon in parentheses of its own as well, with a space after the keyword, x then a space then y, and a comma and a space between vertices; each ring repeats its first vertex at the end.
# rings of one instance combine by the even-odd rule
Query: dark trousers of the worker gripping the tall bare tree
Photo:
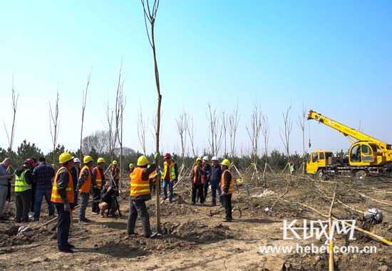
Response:
POLYGON ((143 235, 145 237, 149 237, 151 235, 150 215, 148 215, 147 206, 145 206, 145 200, 130 200, 127 234, 130 235, 135 232, 135 223, 138 215, 140 216, 140 220, 142 220, 143 235))

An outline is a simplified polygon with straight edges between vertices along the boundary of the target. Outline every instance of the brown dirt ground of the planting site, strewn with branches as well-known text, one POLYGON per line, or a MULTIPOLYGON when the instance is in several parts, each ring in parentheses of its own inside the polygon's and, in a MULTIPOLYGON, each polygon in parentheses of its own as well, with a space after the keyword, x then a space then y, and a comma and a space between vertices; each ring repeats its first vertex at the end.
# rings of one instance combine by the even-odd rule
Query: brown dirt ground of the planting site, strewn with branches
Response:
MULTIPOLYGON (((242 217, 235 211, 232 223, 222 223, 223 208, 209 206, 210 194, 206 205, 190 205, 190 183, 184 180, 175 188, 173 203, 161 205, 163 235, 154 239, 140 236, 143 233, 140 220, 136 224, 139 235, 126 235, 129 195, 124 189, 119 198, 122 217, 99 218, 91 214, 89 205, 86 216, 93 223, 79 225, 73 220, 70 237, 76 246, 73 254, 57 251, 56 222, 17 235, 21 225, 38 227, 48 221, 46 203, 43 203, 39 222, 17 224, 10 220, 0 224, 0 270, 328 270, 326 253, 262 254, 259 246, 324 245, 326 240, 322 238, 283 240, 281 228, 285 219, 299 220, 296 225, 301 225, 304 219, 325 220, 294 202, 328 214, 331 200, 328 197, 335 186, 336 199, 363 211, 378 208, 384 219, 370 227, 361 223, 361 215, 340 203, 334 205, 333 215, 357 219, 359 227, 392 240, 392 207, 373 201, 392 203, 392 194, 381 192, 391 187, 391 180, 359 182, 344 178, 321 182, 298 176, 290 180, 287 175, 273 174, 267 175, 266 182, 251 181, 250 177, 244 180, 233 195, 233 208, 242 210, 242 217), (282 199, 287 201, 277 201, 282 194, 282 199), (272 211, 265 210, 273 205, 272 211)), ((14 197, 12 200, 6 203, 5 210, 10 218, 14 216, 14 197)), ((155 230, 155 200, 148 202, 148 209, 155 230)), ((339 246, 373 246, 377 250, 372 254, 337 253, 335 270, 392 270, 392 247, 358 231, 354 233, 356 240, 349 240, 348 235, 334 237, 334 243, 339 246)))

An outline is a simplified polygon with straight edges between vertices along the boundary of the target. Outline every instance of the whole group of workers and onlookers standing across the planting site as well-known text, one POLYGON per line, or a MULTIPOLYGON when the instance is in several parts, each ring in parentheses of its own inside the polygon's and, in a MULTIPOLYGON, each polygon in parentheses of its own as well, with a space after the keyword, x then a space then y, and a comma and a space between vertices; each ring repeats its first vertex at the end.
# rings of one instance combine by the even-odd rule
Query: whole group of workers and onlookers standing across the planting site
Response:
MULTIPOLYGON (((158 158, 159 153, 154 155, 158 158)), ((164 200, 168 199, 172 203, 173 184, 178 180, 177 163, 172 159, 170 153, 163 156, 165 162, 162 174, 157 173, 155 163, 149 165, 148 158, 140 156, 135 167, 130 163, 130 210, 127 221, 127 234, 136 235, 135 222, 138 216, 143 225, 144 237, 155 237, 156 232, 150 228, 150 216, 148 214, 146 200, 151 199, 151 193, 155 193, 155 183, 158 178, 163 183, 164 200), (169 193, 167 194, 167 188, 169 193)), ((14 174, 7 172, 11 166, 11 159, 6 158, 0 164, 0 220, 7 220, 3 215, 6 198, 9 197, 9 181, 15 177, 16 195, 16 223, 29 222, 29 211, 31 210, 31 199, 33 198, 33 219, 40 218, 41 203, 43 197, 48 204, 48 213, 54 217, 55 208, 58 213, 57 241, 58 250, 61 252, 73 252, 74 247, 68 242, 68 234, 71 226, 73 210, 80 208, 78 213, 78 223, 91 223, 86 218, 86 208, 91 204, 93 215, 115 216, 115 212, 120 212, 117 197, 119 195, 120 168, 117 161, 113 161, 107 174, 105 159, 98 158, 97 165, 91 156, 83 158, 83 168, 81 161, 74 158, 70 153, 62 153, 58 162, 61 168, 55 173, 52 165, 47 165, 45 158, 39 158, 38 163, 33 158, 24 161, 24 165, 17 168, 14 174), (108 177, 108 178, 107 178, 108 177), (35 187, 33 189, 33 187, 35 187), (90 196, 92 199, 90 200, 90 196), (78 205, 78 198, 80 204, 78 205), (106 212, 107 211, 107 212, 106 212)), ((217 157, 212 157, 212 164, 208 162, 208 157, 196 159, 196 165, 192 169, 192 205, 197 200, 204 205, 208 188, 211 188, 211 205, 217 205, 217 198, 221 207, 225 207, 224 222, 232 221, 232 193, 233 180, 229 170, 230 162, 225 159, 218 163, 217 157)), ((158 182, 160 183, 160 182, 158 182)))

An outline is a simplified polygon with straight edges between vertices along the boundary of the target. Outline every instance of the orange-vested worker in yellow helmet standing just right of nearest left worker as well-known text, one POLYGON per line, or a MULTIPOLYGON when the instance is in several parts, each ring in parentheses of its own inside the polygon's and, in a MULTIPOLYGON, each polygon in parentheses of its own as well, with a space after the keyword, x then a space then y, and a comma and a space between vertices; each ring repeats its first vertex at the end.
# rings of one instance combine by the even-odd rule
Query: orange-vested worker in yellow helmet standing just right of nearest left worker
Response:
POLYGON ((91 190, 91 168, 93 167, 93 158, 86 155, 83 158, 84 167, 81 170, 76 189, 81 194, 81 208, 79 209, 79 223, 90 223, 91 220, 86 218, 86 208, 91 190))

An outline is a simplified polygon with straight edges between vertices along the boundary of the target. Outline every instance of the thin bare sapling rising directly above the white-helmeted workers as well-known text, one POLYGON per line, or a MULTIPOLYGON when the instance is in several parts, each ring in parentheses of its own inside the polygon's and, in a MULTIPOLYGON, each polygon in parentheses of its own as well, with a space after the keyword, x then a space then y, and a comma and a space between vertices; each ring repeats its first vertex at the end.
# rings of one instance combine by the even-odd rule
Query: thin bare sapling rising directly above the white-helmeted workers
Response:
POLYGON ((217 115, 217 108, 212 109, 210 102, 207 103, 208 113, 207 118, 209 122, 210 135, 208 142, 210 143, 210 149, 212 155, 218 155, 220 147, 222 146, 222 125, 220 118, 217 115))

